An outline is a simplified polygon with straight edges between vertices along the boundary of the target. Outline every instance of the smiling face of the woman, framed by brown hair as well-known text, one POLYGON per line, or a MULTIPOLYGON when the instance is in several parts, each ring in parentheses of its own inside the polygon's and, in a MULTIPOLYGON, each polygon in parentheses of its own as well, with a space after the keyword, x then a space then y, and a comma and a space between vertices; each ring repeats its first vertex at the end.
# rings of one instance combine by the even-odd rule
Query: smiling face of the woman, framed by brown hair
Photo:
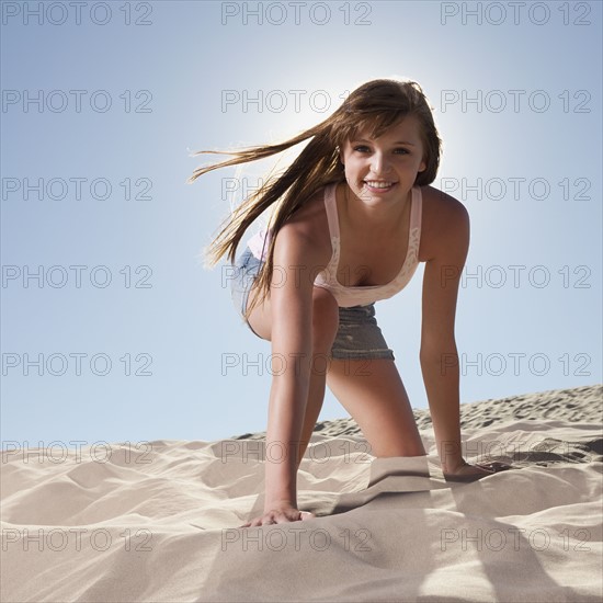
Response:
POLYGON ((419 121, 412 115, 378 138, 360 130, 348 140, 340 158, 353 193, 367 203, 406 198, 417 173, 426 168, 419 132, 419 121))

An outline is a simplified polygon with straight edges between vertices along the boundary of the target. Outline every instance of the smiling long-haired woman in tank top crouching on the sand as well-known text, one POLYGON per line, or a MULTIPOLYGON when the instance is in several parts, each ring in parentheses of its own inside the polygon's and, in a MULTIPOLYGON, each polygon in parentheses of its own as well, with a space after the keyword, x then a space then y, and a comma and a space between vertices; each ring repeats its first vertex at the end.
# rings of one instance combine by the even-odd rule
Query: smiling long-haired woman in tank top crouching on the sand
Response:
MULTIPOLYGON (((311 516, 297 509, 296 475, 326 386, 375 456, 425 454, 375 318, 375 303, 401 291, 419 262, 426 262, 421 368, 444 475, 479 479, 496 469, 470 466, 462 456, 454 322, 469 218, 457 200, 430 186, 441 139, 421 87, 364 83, 317 126, 281 144, 231 151, 234 159, 196 169, 189 182, 305 140, 292 164, 235 211, 209 248, 211 263, 225 254, 234 263, 237 310, 280 362, 266 446, 284 447, 285 455, 266 458, 264 513, 244 526, 311 516), (237 258, 246 230, 273 205, 269 228, 237 258)), ((216 151, 195 155, 204 152, 216 151)))

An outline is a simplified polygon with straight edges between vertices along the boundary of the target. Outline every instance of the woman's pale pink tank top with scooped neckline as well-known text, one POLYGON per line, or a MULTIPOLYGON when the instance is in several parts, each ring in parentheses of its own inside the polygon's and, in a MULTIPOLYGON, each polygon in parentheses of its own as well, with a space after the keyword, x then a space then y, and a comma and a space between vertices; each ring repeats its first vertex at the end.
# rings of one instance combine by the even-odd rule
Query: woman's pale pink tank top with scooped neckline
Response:
MULTIPOLYGON (((325 208, 327 211, 327 220, 329 224, 333 252, 325 270, 317 274, 314 284, 315 286, 330 291, 340 307, 350 308, 352 306, 368 306, 379 299, 387 299, 403 289, 419 265, 419 242, 421 240, 422 216, 421 189, 419 186, 412 187, 408 250, 400 272, 385 285, 346 287, 337 280, 341 240, 335 203, 337 184, 335 182, 325 186, 325 208)), ((248 247, 255 258, 265 261, 269 243, 270 232, 266 232, 264 229, 250 239, 248 247)))

